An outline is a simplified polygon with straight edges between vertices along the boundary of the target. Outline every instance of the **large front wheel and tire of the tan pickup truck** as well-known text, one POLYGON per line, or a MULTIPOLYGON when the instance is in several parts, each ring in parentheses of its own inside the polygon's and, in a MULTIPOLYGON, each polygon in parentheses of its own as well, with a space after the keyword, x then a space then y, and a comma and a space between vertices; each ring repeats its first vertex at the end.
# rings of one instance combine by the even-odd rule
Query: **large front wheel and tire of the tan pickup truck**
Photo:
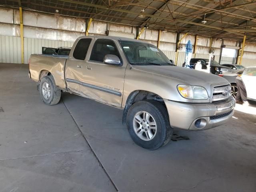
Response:
POLYGON ((134 103, 128 110, 126 124, 132 140, 148 150, 166 145, 172 136, 168 112, 160 102, 144 100, 134 103))

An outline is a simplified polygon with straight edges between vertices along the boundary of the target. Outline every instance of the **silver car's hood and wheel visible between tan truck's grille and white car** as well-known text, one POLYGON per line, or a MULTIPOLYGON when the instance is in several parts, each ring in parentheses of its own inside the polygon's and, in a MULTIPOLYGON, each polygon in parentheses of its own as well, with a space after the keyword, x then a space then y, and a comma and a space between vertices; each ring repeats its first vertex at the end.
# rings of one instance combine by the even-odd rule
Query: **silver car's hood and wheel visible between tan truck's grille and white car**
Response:
POLYGON ((218 74, 218 76, 224 77, 231 84, 231 95, 236 98, 237 86, 236 86, 236 77, 241 75, 244 71, 244 68, 232 70, 231 72, 226 72, 222 74, 218 74))

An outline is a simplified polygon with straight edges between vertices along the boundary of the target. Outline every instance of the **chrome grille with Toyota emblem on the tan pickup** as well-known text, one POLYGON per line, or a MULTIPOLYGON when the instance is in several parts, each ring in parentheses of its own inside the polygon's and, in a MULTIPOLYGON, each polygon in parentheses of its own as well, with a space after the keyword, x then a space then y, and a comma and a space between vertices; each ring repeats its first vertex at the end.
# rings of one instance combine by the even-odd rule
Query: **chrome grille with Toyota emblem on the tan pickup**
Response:
POLYGON ((213 88, 212 101, 220 101, 229 98, 231 95, 231 86, 218 86, 213 88))

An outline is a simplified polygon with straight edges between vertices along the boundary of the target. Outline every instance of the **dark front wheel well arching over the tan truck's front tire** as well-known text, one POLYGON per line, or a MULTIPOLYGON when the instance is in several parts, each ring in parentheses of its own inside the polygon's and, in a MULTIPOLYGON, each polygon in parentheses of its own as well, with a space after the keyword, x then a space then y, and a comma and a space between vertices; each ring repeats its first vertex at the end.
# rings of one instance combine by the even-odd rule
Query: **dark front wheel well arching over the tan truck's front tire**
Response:
POLYGON ((126 115, 132 104, 142 101, 142 100, 155 100, 160 102, 164 107, 166 108, 166 105, 164 103, 164 100, 162 97, 160 97, 158 94, 155 94, 153 92, 144 91, 144 90, 136 90, 132 92, 127 100, 123 111, 123 118, 122 118, 122 124, 126 124, 126 115))

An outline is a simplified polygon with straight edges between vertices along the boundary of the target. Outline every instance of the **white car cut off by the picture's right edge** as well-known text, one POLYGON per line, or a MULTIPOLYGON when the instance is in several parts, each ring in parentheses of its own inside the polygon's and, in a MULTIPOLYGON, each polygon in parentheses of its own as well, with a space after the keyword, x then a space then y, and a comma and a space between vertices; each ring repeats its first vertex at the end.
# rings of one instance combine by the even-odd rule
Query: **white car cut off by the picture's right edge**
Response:
POLYGON ((246 88, 247 98, 256 100, 256 67, 246 67, 241 77, 246 88))

